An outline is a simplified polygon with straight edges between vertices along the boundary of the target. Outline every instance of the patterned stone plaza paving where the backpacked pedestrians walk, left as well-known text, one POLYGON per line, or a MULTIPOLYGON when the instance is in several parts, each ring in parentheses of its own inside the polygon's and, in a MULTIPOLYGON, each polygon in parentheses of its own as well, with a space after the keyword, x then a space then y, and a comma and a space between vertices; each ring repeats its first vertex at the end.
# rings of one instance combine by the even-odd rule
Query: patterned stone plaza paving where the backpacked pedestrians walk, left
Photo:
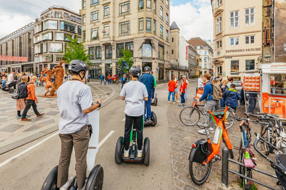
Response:
MULTIPOLYGON (((91 87, 93 100, 101 96, 102 102, 108 101, 114 96, 116 89, 119 89, 115 84, 106 86, 100 85, 98 82, 87 84, 91 87)), ((43 95, 45 91, 46 88, 44 87, 36 87, 36 96, 43 95)), ((12 99, 11 95, 8 92, 0 91, 0 154, 58 129, 57 98, 37 97, 39 101, 37 104, 38 111, 45 113, 45 115, 36 118, 31 107, 28 114, 32 116, 30 118, 32 121, 23 123, 16 118, 16 100, 12 99)))

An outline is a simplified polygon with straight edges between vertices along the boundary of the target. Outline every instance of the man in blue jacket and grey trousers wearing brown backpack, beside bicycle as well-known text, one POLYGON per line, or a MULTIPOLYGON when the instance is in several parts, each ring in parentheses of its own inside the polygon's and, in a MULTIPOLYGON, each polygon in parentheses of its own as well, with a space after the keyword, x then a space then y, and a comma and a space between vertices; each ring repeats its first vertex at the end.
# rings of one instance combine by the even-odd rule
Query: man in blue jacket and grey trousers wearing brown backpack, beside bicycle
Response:
MULTIPOLYGON (((197 102, 199 103, 203 100, 206 100, 203 113, 205 113, 207 110, 214 112, 216 102, 212 98, 214 92, 213 92, 212 82, 210 81, 211 80, 211 74, 209 74, 209 73, 203 74, 203 79, 204 79, 204 82, 206 83, 206 85, 204 87, 202 97, 200 99, 198 99, 197 102)), ((204 122, 209 125, 209 113, 204 115, 204 122)), ((215 129, 214 129, 215 128, 215 122, 213 120, 211 120, 211 123, 212 123, 211 127, 206 128, 208 133, 209 132, 211 132, 211 133, 215 132, 215 129)), ((202 123, 200 123, 200 124, 202 124, 202 123)), ((200 134, 206 134, 204 129, 198 130, 198 132, 200 134)))

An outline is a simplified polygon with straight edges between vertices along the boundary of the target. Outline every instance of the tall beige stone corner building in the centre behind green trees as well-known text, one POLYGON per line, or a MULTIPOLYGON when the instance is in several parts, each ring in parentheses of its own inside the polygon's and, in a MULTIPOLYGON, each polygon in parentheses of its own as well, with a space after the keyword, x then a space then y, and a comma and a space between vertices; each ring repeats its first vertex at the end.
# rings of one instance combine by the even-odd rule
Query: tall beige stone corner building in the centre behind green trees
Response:
POLYGON ((89 74, 119 75, 116 58, 133 52, 134 65, 150 66, 158 83, 170 79, 170 0, 82 0, 83 40, 89 74))

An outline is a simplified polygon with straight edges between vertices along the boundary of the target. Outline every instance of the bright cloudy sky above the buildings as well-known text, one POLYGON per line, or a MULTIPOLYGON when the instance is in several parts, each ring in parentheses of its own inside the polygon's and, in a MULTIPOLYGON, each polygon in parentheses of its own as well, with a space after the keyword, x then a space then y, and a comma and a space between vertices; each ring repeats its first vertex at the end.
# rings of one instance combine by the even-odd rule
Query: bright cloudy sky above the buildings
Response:
MULTIPOLYGON (((0 39, 34 22, 41 12, 55 4, 77 12, 81 8, 81 0, 0 0, 0 4, 0 39)), ((180 29, 180 36, 186 40, 193 37, 213 39, 210 0, 171 0, 170 24, 173 21, 180 29)))

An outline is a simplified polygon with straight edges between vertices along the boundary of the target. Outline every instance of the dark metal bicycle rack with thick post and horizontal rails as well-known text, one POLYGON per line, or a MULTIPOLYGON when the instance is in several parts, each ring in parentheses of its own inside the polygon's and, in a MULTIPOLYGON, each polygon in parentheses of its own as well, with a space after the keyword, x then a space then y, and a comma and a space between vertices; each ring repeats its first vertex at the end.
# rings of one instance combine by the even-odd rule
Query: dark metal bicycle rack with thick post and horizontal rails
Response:
MULTIPOLYGON (((247 176, 245 176, 245 175, 242 175, 242 174, 240 174, 240 173, 238 173, 238 172, 236 172, 236 171, 234 171, 234 170, 229 169, 229 162, 232 162, 232 163, 234 163, 234 164, 241 165, 241 166, 243 166, 243 167, 245 167, 245 165, 244 165, 243 163, 237 162, 237 161, 234 160, 234 159, 230 159, 230 158, 229 158, 229 149, 226 148, 226 147, 223 147, 223 153, 222 153, 222 160, 221 160, 221 161, 222 161, 222 162, 221 162, 221 163, 222 163, 222 165, 221 165, 221 183, 222 183, 223 186, 226 187, 226 188, 228 187, 228 183, 229 183, 229 172, 230 172, 230 173, 232 173, 232 174, 234 174, 234 175, 238 175, 238 176, 240 176, 240 177, 242 177, 242 178, 245 178, 245 179, 248 179, 248 180, 250 180, 250 181, 253 181, 254 183, 257 183, 257 184, 262 185, 262 186, 264 186, 264 187, 267 187, 267 188, 269 188, 269 189, 272 189, 272 190, 280 190, 280 189, 276 189, 275 187, 272 187, 272 186, 270 186, 270 185, 267 185, 267 184, 265 184, 265 183, 262 183, 261 181, 257 181, 257 180, 255 180, 255 179, 249 178, 249 177, 247 177, 247 176)), ((276 179, 277 179, 277 176, 276 176, 276 175, 273 175, 273 174, 271 174, 271 173, 265 172, 265 171, 263 171, 263 170, 259 170, 259 169, 257 169, 257 168, 254 168, 254 169, 252 169, 252 170, 257 171, 257 172, 259 172, 259 173, 262 173, 262 174, 265 174, 265 175, 268 175, 268 176, 270 176, 270 177, 273 177, 273 178, 276 178, 276 179)))

